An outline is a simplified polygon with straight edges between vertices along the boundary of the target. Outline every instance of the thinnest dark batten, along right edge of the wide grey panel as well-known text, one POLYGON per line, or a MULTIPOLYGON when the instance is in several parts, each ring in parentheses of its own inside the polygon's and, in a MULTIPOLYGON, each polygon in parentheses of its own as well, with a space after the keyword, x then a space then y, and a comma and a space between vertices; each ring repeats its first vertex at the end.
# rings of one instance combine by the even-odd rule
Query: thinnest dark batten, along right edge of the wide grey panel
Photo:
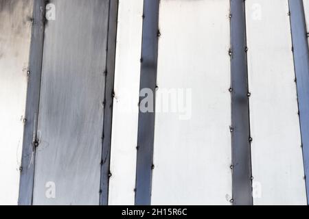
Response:
POLYGON ((115 53, 117 38, 118 0, 109 2, 108 42, 106 57, 106 79, 104 100, 104 124, 102 136, 102 168, 100 182, 100 205, 108 205, 108 184, 111 177, 111 130, 113 120, 113 92, 115 79, 115 53))

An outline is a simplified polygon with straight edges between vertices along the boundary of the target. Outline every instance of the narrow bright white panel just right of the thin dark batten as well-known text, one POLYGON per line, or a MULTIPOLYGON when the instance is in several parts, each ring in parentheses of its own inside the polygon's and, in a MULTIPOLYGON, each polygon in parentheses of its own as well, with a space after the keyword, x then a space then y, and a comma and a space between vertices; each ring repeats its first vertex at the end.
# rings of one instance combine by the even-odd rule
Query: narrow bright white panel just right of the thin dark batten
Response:
POLYGON ((134 205, 143 0, 120 0, 109 205, 134 205))

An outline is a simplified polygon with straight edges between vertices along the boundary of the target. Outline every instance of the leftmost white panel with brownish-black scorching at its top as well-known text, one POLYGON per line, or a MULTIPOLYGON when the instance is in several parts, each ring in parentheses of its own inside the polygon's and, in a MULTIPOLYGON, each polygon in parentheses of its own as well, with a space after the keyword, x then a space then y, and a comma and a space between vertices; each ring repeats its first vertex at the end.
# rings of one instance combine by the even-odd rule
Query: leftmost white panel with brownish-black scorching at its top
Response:
POLYGON ((32 0, 0 0, 0 205, 16 205, 30 53, 32 0))

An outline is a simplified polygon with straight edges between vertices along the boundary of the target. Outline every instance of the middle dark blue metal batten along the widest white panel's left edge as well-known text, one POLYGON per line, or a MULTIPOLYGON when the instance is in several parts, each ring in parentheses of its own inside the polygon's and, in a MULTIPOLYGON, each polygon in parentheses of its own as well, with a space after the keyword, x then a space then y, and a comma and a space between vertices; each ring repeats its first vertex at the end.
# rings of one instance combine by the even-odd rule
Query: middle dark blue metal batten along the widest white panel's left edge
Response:
MULTIPOLYGON (((149 88, 155 96, 159 37, 159 0, 144 0, 141 45, 140 90, 149 88)), ((155 109, 155 103, 154 103, 155 109)), ((151 204, 155 113, 139 112, 135 205, 151 204)))

